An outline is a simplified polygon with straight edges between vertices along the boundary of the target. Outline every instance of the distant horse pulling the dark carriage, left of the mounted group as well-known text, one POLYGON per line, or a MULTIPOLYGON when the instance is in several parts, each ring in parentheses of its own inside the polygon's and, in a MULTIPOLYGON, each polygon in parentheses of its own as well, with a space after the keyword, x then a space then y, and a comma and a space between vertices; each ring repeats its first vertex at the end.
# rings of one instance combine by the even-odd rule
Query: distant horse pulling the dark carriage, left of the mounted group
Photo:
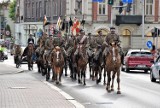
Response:
POLYGON ((33 53, 34 53, 33 44, 29 44, 27 53, 28 70, 33 70, 33 60, 32 60, 33 53))

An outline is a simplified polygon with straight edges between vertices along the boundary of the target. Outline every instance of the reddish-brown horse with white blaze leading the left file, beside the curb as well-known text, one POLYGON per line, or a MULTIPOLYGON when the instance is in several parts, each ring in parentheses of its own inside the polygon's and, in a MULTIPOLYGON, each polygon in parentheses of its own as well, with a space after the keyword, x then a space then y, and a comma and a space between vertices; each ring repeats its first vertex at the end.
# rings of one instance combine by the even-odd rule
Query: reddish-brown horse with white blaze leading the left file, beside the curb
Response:
POLYGON ((51 54, 51 67, 52 67, 52 80, 56 80, 56 84, 61 82, 61 76, 64 67, 64 57, 62 50, 59 46, 56 46, 51 54))

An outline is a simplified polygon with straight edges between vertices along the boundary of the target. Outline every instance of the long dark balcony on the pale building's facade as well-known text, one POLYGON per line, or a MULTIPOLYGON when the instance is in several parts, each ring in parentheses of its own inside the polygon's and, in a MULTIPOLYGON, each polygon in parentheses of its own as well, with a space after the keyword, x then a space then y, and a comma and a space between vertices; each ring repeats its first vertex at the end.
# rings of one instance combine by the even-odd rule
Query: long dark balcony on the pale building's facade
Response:
POLYGON ((115 24, 117 26, 120 24, 137 24, 140 26, 142 24, 142 15, 116 15, 115 24))

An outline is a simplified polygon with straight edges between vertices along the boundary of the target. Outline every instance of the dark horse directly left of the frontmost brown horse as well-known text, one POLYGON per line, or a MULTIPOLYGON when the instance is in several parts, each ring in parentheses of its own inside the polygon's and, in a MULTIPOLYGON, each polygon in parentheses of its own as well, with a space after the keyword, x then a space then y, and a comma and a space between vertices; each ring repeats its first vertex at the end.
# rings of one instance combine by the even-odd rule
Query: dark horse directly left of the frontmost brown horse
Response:
POLYGON ((98 48, 94 48, 92 56, 92 80, 96 78, 96 83, 98 84, 101 81, 102 74, 102 52, 98 48))

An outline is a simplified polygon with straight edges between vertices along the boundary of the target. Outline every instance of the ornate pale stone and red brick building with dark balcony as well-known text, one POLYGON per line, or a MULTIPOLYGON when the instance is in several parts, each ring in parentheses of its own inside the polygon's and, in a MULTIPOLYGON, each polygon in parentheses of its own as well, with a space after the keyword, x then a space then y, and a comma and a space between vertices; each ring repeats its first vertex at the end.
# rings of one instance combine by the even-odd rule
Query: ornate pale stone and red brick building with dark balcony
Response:
MULTIPOLYGON (((92 2, 92 0, 66 0, 66 16, 78 17, 80 20, 85 19, 84 29, 86 32, 97 34, 98 30, 102 30, 103 34, 109 32, 111 22, 116 27, 118 34, 122 40, 122 47, 128 48, 147 48, 148 40, 156 44, 152 38, 154 27, 160 28, 160 1, 159 0, 144 0, 144 5, 141 1, 133 0, 130 5, 126 6, 119 13, 119 0, 114 0, 114 5, 108 5, 108 0, 102 3, 92 2), (142 10, 144 7, 145 23, 142 24, 142 10), (126 10, 130 12, 126 12, 126 10), (112 19, 112 20, 111 20, 112 19), (124 19, 124 20, 121 20, 124 19), (137 20, 138 19, 138 20, 137 20), (119 22, 118 22, 119 21, 119 22), (144 28, 144 38, 142 31, 144 28)), ((158 41, 159 37, 158 37, 158 41)), ((160 47, 160 44, 158 44, 160 47)))

